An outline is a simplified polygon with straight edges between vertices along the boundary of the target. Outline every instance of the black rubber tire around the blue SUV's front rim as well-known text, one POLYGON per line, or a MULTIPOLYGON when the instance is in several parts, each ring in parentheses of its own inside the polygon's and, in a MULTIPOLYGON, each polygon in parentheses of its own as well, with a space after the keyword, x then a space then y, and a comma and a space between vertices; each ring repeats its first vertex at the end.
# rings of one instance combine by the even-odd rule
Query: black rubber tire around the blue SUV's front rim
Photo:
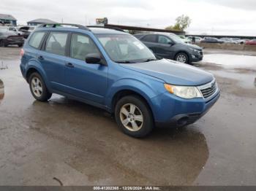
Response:
MULTIPOLYGON (((130 113, 131 111, 130 110, 128 111, 127 109, 127 112, 130 113)), ((148 133, 150 133, 151 130, 154 128, 154 120, 151 114, 151 110, 148 107, 148 104, 146 104, 146 102, 137 95, 126 96, 124 98, 121 98, 117 102, 116 108, 115 108, 115 118, 116 118, 118 127, 121 128, 121 130, 128 136, 132 136, 135 138, 143 138, 147 136, 148 133), (123 106, 129 106, 129 104, 136 106, 133 117, 139 116, 139 115, 142 116, 143 122, 140 122, 137 120, 132 121, 132 122, 137 121, 136 125, 140 126, 138 130, 129 130, 122 123, 122 120, 124 121, 124 119, 121 119, 121 117, 125 115, 121 113, 121 109, 123 108, 123 106), (139 112, 139 114, 137 113, 136 115, 136 112, 139 112)), ((127 120, 128 120, 128 117, 127 117, 127 120)), ((132 122, 128 122, 127 125, 130 125, 131 128, 133 129, 132 122)))

